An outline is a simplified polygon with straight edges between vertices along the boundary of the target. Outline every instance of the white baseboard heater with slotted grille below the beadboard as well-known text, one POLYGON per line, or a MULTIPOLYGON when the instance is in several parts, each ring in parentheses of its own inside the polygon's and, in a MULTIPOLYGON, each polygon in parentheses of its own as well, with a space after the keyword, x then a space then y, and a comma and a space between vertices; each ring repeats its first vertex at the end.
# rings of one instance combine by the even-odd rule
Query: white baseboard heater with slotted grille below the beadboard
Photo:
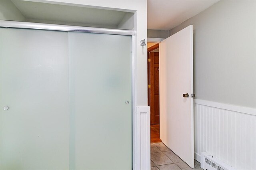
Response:
POLYGON ((236 170, 224 162, 214 158, 207 152, 201 153, 201 168, 204 170, 236 170))

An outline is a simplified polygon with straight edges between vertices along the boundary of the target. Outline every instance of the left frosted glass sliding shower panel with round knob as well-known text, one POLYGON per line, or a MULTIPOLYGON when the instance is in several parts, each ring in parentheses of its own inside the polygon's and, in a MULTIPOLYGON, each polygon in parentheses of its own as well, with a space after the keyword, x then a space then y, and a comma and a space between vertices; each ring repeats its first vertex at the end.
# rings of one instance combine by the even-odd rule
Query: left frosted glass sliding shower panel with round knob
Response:
POLYGON ((68 105, 68 32, 0 28, 0 169, 67 170, 68 105))

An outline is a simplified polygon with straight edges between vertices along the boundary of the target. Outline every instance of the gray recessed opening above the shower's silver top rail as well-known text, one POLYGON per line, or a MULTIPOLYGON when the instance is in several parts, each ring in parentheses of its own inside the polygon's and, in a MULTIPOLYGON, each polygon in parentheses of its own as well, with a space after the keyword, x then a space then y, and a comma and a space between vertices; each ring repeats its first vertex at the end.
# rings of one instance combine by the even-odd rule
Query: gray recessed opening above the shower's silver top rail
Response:
POLYGON ((16 20, 46 24, 63 24, 98 28, 134 29, 134 13, 118 10, 98 9, 74 4, 53 4, 23 0, 1 1, 1 20, 16 20), (8 12, 7 12, 8 11, 8 12), (3 13, 3 12, 2 12, 3 13), (16 15, 19 14, 19 17, 16 15), (126 23, 129 24, 126 24, 126 23))

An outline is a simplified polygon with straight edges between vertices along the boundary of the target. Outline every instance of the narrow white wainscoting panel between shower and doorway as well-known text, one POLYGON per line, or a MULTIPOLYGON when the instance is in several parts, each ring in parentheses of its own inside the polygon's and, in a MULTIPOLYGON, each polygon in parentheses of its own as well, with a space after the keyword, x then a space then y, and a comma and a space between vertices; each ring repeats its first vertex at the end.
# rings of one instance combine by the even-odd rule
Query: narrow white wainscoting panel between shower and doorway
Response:
POLYGON ((150 107, 136 107, 135 119, 135 135, 140 139, 140 142, 135 143, 135 155, 137 155, 137 158, 134 158, 135 170, 150 170, 150 107))

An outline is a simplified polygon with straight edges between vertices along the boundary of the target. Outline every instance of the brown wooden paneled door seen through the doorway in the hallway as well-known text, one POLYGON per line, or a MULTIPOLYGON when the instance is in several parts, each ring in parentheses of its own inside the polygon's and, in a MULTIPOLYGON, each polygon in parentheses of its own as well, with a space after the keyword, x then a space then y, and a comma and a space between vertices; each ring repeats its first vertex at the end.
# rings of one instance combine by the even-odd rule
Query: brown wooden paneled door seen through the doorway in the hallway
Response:
POLYGON ((159 124, 159 52, 149 52, 150 124, 159 124))

